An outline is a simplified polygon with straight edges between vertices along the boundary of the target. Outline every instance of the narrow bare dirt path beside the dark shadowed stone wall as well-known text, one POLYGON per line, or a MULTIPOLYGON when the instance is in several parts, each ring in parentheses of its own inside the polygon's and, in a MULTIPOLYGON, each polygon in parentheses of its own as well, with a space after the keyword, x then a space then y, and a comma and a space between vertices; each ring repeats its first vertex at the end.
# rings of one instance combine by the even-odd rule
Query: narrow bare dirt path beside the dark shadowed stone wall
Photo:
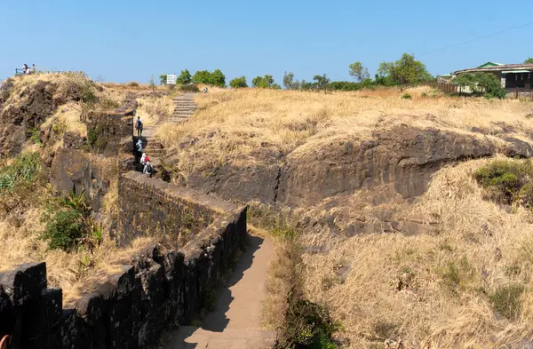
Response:
POLYGON ((250 237, 227 287, 219 290, 217 305, 202 327, 182 326, 171 332, 164 349, 228 348, 266 349, 275 343, 275 332, 260 330, 265 279, 274 248, 271 242, 250 237))

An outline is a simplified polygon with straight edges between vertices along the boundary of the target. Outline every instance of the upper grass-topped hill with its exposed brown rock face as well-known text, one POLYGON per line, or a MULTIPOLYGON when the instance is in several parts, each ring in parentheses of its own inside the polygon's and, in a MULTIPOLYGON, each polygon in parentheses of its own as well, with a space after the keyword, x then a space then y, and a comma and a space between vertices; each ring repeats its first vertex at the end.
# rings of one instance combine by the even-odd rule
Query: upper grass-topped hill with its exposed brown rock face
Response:
POLYGON ((533 120, 514 100, 415 93, 198 96, 191 121, 161 135, 166 166, 182 185, 298 210, 306 229, 416 233, 420 219, 405 220, 402 205, 424 194, 436 171, 498 153, 529 157, 533 120))

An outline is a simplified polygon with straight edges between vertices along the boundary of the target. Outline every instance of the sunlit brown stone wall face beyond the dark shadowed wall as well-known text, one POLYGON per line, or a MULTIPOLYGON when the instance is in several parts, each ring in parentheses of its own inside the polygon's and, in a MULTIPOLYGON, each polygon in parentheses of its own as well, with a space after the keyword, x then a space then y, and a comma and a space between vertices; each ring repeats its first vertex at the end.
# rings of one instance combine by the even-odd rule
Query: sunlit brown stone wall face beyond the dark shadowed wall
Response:
POLYGON ((139 236, 158 236, 182 246, 215 218, 235 209, 214 196, 134 171, 119 179, 118 196, 121 235, 116 240, 122 245, 139 236))

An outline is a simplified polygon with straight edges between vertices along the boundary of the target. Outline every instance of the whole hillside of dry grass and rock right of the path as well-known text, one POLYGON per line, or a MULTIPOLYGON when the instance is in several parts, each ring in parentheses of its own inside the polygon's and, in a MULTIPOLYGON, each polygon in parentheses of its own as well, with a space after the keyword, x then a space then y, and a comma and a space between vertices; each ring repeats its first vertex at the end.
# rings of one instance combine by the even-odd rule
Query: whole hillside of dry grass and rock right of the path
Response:
POLYGON ((303 253, 272 273, 301 258, 303 293, 342 324, 340 347, 529 347, 530 209, 491 202, 473 174, 533 154, 533 108, 402 93, 198 95, 188 123, 162 128, 165 165, 183 186, 255 202, 274 234, 290 228, 272 210, 288 211, 303 253))

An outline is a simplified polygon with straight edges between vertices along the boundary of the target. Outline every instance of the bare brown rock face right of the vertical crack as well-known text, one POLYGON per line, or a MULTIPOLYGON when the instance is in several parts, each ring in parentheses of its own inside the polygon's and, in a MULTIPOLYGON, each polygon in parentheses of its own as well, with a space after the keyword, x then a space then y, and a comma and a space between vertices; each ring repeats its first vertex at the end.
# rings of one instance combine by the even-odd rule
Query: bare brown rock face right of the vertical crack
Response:
POLYGON ((408 127, 376 131, 370 140, 346 140, 314 149, 305 157, 290 155, 282 169, 278 201, 313 205, 339 194, 368 189, 378 205, 401 195, 424 194, 442 166, 493 155, 489 141, 453 132, 408 127))

